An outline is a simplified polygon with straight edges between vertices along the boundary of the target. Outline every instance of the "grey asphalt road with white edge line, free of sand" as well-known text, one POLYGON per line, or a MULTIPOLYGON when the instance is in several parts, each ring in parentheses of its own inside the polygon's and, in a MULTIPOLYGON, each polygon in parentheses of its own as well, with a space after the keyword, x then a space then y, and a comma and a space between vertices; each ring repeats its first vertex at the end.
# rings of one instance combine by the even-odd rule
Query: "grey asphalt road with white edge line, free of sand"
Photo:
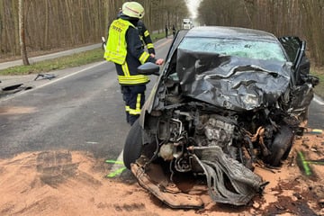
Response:
MULTIPOLYGON (((166 56, 171 41, 157 42, 158 57, 166 56)), ((113 64, 103 61, 54 73, 51 80, 30 77, 31 90, 0 98, 0 157, 58 148, 120 157, 130 126, 113 64)), ((151 76, 148 92, 156 78, 151 76)), ((317 98, 309 126, 323 129, 323 122, 324 103, 317 98)))

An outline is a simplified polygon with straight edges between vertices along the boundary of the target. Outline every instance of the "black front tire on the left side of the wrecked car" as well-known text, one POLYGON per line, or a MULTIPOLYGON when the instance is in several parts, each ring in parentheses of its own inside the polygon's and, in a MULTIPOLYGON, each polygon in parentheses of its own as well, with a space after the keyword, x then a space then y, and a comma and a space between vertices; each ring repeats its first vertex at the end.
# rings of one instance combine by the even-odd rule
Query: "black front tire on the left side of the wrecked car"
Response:
POLYGON ((123 163, 128 169, 140 156, 142 150, 142 134, 139 120, 135 121, 127 135, 123 148, 123 163))

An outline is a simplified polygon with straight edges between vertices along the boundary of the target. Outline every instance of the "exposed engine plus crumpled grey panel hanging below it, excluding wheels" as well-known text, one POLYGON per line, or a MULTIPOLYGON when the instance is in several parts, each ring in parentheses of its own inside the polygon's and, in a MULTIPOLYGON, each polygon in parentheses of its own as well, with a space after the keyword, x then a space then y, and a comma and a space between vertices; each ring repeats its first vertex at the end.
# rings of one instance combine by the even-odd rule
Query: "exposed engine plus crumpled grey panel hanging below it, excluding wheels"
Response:
POLYGON ((149 118, 153 128, 146 130, 151 132, 147 146, 156 148, 150 161, 160 157, 169 164, 171 181, 175 172, 206 175, 215 202, 238 205, 263 190, 266 183, 252 170, 258 159, 271 162, 271 145, 280 127, 265 115, 273 112, 215 113, 205 103, 190 102, 161 113, 149 118))

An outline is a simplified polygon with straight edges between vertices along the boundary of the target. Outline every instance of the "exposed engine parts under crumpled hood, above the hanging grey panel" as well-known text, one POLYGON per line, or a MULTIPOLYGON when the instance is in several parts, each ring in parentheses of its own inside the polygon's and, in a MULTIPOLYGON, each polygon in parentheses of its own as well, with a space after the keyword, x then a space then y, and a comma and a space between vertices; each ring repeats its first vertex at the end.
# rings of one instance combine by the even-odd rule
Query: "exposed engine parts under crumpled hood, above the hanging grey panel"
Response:
MULTIPOLYGON (((257 159, 266 160, 271 155, 272 141, 280 130, 280 126, 266 113, 245 112, 239 115, 226 112, 220 115, 212 113, 206 106, 202 108, 202 103, 187 103, 170 109, 159 116, 155 124, 158 156, 166 161, 175 160, 178 172, 196 171, 192 153, 199 155, 200 149, 217 146, 229 157, 252 169, 252 163, 257 159)), ((274 113, 268 112, 270 114, 274 113)))

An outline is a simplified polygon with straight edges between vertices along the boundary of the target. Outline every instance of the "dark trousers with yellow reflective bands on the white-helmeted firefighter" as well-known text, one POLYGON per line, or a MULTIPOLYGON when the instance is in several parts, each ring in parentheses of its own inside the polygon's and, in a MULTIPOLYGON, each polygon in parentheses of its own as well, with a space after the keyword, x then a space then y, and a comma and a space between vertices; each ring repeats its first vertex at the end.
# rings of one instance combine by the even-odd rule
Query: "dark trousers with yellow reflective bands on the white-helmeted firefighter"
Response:
POLYGON ((121 85, 125 102, 126 121, 132 125, 138 118, 145 102, 146 85, 121 85))

